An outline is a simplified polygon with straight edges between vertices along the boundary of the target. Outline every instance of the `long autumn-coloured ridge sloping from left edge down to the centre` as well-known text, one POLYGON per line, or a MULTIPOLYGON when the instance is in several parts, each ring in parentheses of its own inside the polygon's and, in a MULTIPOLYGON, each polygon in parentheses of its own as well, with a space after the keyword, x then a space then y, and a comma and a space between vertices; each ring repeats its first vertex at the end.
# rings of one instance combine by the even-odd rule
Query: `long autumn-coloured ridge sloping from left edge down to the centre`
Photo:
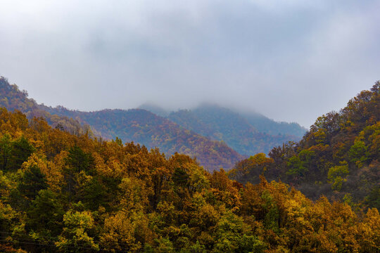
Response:
MULTIPOLYGON (((184 153, 196 157, 207 169, 230 169, 243 159, 242 155, 220 141, 212 141, 194 131, 170 122, 170 120, 141 109, 101 110, 98 112, 81 112, 68 110, 63 106, 56 108, 37 103, 27 98, 26 91, 20 91, 1 77, 0 106, 8 110, 20 110, 28 118, 45 117, 54 127, 71 130, 91 127, 91 132, 107 139, 120 138, 122 141, 134 141, 146 148, 158 147, 167 155, 184 153), (70 124, 69 124, 70 123, 70 124), (75 128, 74 128, 75 129, 75 128)), ((78 133, 85 131, 77 130, 78 133)))

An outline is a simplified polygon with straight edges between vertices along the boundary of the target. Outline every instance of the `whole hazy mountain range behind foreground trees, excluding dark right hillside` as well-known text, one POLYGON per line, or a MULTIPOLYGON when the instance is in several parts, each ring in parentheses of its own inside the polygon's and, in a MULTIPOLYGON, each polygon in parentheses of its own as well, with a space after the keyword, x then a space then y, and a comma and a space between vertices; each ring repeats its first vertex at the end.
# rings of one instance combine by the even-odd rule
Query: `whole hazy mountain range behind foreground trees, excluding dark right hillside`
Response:
MULTIPOLYGON (((167 155, 184 153, 196 157, 210 170, 220 167, 228 170, 248 155, 268 153, 274 146, 300 140, 298 136, 284 134, 287 130, 279 126, 288 126, 286 123, 277 123, 263 116, 256 120, 252 115, 243 117, 217 105, 204 104, 194 110, 170 114, 149 103, 132 110, 81 112, 63 106, 38 105, 15 84, 8 84, 5 78, 0 82, 0 106, 8 110, 20 110, 30 119, 44 117, 53 127, 72 134, 87 133, 108 139, 118 137, 147 148, 158 147, 167 155), (258 130, 255 126, 260 122, 265 122, 265 127, 258 130), (271 132, 279 134, 268 134, 271 132)), ((291 126, 297 129, 298 124, 291 126)))

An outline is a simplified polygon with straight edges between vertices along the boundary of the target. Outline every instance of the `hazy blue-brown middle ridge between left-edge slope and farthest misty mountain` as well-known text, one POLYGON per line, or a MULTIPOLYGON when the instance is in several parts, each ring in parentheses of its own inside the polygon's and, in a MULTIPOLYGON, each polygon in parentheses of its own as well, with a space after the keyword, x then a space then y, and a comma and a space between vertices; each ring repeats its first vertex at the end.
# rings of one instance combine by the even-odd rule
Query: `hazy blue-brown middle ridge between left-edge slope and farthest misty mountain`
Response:
POLYGON ((80 112, 65 108, 39 106, 51 114, 80 119, 104 138, 121 138, 122 141, 140 143, 147 148, 160 148, 166 154, 183 153, 196 157, 207 169, 229 169, 243 158, 227 144, 212 141, 142 109, 101 110, 80 112))

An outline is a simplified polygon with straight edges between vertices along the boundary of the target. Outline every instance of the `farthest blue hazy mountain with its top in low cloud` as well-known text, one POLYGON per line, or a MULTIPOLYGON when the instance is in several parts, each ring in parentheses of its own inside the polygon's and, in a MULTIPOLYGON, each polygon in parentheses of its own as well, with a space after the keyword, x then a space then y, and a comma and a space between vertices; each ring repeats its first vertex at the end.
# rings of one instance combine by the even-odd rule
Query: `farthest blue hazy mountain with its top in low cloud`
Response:
POLYGON ((268 153, 274 146, 287 141, 300 140, 299 136, 284 134, 284 132, 296 132, 298 135, 303 133, 303 129, 298 124, 278 123, 264 116, 254 119, 252 114, 247 115, 249 117, 218 105, 203 104, 193 110, 171 112, 168 119, 197 134, 224 141, 243 155, 268 153), (254 125, 260 125, 260 122, 264 122, 265 126, 262 126, 259 131, 254 125), (287 126, 290 126, 289 129, 286 129, 287 126), (265 130, 266 127, 267 130, 265 130), (290 131, 292 127, 296 131, 290 131), (263 130, 267 133, 271 131, 277 133, 267 134, 263 130))

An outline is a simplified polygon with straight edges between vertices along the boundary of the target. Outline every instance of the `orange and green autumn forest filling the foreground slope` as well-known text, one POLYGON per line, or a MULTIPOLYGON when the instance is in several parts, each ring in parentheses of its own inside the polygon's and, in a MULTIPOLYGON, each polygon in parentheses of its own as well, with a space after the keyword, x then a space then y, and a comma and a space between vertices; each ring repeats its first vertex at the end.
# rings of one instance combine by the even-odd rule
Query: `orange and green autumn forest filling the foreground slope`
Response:
POLYGON ((356 212, 0 109, 0 252, 379 252, 378 210, 356 212))

